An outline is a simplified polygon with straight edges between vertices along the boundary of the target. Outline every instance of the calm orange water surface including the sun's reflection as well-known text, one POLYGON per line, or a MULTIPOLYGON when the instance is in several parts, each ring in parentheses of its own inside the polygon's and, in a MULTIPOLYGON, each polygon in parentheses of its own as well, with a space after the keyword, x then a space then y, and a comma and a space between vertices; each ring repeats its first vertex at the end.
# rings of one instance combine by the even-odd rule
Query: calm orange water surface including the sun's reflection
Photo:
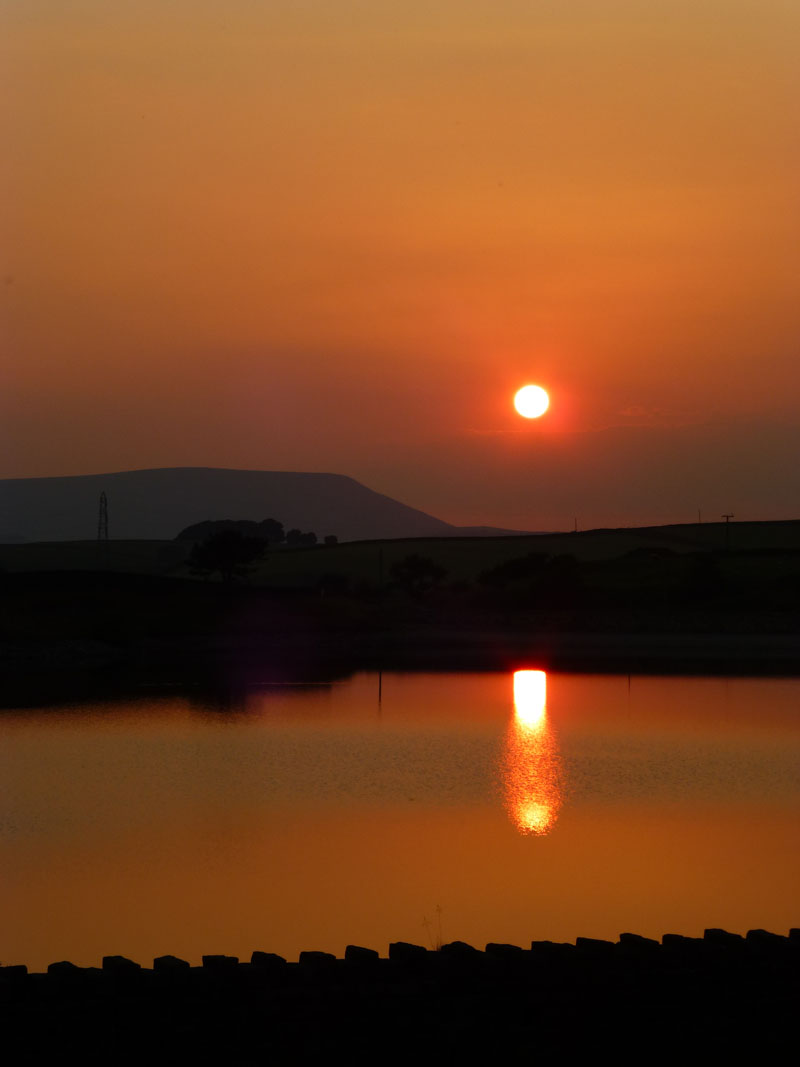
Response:
POLYGON ((0 714, 0 960, 800 925, 800 681, 361 674, 0 714))

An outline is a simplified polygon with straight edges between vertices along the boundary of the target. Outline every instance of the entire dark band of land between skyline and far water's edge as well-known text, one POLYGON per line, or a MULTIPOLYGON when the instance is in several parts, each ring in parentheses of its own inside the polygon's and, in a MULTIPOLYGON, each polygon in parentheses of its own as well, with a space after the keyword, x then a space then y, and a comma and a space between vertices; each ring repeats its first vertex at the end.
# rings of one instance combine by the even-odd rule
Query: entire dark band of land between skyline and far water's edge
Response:
POLYGON ((68 695, 78 675, 217 684, 532 654, 580 670, 800 670, 800 523, 730 538, 725 551, 707 524, 273 547, 228 583, 191 573, 191 542, 0 545, 5 699, 68 695), (394 570, 409 556, 442 570, 414 585, 394 570))

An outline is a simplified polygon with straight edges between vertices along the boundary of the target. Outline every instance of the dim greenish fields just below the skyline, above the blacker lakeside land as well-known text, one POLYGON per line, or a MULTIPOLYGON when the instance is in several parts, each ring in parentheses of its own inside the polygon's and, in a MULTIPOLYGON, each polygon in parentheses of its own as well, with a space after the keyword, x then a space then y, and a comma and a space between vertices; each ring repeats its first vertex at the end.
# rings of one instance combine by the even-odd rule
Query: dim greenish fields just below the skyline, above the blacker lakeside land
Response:
MULTIPOLYGON (((31 571, 110 571, 190 578, 186 564, 190 543, 183 541, 39 542, 0 545, 0 568, 31 571)), ((350 590, 382 588, 391 583, 391 569, 410 555, 431 559, 444 569, 443 585, 470 584, 485 572, 530 553, 573 557, 579 563, 620 567, 591 568, 601 587, 612 588, 623 572, 635 582, 660 574, 670 557, 714 553, 725 570, 751 580, 759 574, 794 575, 800 561, 800 521, 652 526, 638 529, 587 530, 499 538, 423 538, 395 541, 352 541, 309 548, 273 547, 246 575, 250 585, 311 589, 338 582, 350 590), (725 552, 730 538, 731 552, 725 552), (727 560, 725 557, 730 556, 727 560), (637 557, 640 557, 637 561, 637 557), (660 562, 659 562, 660 560, 660 562), (735 567, 734 567, 735 561, 735 567), (604 575, 604 576, 601 576, 604 575)), ((685 568, 675 561, 673 570, 685 568)), ((586 568, 583 569, 586 570, 586 568)), ((623 582, 623 585, 625 583, 623 582)))

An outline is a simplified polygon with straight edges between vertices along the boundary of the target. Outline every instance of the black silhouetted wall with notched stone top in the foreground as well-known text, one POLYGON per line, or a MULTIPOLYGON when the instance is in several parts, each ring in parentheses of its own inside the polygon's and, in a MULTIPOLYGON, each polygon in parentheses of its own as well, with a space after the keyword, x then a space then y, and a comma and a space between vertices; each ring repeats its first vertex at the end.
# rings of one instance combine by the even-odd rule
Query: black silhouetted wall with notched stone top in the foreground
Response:
POLYGON ((485 952, 400 942, 387 959, 350 946, 343 959, 255 952, 199 968, 110 956, 101 969, 0 968, 1 1033, 22 1063, 778 1063, 796 1048, 799 975, 800 929, 485 952))

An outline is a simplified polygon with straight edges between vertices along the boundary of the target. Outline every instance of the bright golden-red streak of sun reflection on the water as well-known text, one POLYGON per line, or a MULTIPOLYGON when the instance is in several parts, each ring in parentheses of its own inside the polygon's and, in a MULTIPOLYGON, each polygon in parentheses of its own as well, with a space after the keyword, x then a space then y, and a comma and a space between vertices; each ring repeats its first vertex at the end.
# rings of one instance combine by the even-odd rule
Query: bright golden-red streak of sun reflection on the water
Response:
POLYGON ((547 675, 514 671, 514 715, 503 753, 506 808, 521 833, 549 833, 562 803, 561 758, 547 721, 547 675))

